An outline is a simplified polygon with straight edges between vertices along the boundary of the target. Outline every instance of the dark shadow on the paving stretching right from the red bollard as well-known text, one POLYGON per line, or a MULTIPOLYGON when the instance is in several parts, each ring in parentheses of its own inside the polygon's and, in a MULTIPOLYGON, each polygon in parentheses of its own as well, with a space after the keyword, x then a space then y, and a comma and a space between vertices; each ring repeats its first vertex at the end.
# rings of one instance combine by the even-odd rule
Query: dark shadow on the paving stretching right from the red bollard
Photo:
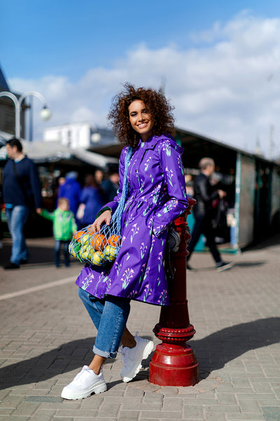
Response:
POLYGON ((269 317, 230 326, 188 344, 195 352, 200 377, 206 378, 212 370, 223 368, 226 363, 251 349, 278 343, 279 338, 280 317, 269 317))

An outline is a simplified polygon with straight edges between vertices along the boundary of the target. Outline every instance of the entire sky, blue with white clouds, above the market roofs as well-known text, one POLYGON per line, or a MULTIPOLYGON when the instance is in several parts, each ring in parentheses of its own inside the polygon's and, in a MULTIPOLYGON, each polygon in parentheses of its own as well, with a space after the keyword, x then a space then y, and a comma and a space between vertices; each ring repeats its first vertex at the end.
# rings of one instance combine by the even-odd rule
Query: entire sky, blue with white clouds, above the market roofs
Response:
MULTIPOLYGON (((122 82, 164 81, 179 126, 251 152, 258 140, 267 153, 273 125, 277 143, 279 1, 9 0, 0 24, 10 88, 41 91, 48 126, 104 126, 122 82)), ((42 130, 35 119, 38 140, 42 130)))

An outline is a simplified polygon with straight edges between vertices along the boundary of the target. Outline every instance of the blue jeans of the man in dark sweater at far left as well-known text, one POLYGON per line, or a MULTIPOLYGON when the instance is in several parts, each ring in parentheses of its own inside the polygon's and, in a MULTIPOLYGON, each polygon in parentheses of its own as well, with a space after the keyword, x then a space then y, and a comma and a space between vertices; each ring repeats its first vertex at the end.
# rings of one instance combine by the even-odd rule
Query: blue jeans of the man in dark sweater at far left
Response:
POLYGON ((20 260, 27 260, 29 257, 28 248, 23 236, 23 227, 27 221, 29 207, 24 205, 13 206, 6 209, 8 229, 12 236, 13 246, 10 262, 20 265, 20 260))

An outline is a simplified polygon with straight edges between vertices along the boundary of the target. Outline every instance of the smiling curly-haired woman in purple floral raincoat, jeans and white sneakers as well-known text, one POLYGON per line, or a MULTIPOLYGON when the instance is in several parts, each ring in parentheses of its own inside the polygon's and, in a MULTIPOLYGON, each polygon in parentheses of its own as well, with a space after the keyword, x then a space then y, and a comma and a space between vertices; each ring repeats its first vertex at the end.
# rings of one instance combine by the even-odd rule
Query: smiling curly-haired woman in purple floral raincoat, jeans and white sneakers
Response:
MULTIPOLYGON (((130 84, 113 100, 109 119, 119 140, 120 189, 113 201, 99 210, 92 232, 111 226, 121 215, 120 249, 112 261, 87 263, 76 281, 78 294, 97 328, 94 358, 89 366, 62 390, 64 399, 81 399, 106 390, 102 366, 120 348, 123 382, 132 380, 141 361, 153 349, 153 341, 135 336, 126 328, 130 300, 168 305, 165 246, 169 225, 188 207, 181 161, 183 148, 170 134, 172 106, 161 91, 134 88, 130 84), (126 188, 127 187, 127 188, 126 188), (125 195, 123 195, 125 192, 125 195)), ((104 250, 106 250, 107 246, 104 250)))

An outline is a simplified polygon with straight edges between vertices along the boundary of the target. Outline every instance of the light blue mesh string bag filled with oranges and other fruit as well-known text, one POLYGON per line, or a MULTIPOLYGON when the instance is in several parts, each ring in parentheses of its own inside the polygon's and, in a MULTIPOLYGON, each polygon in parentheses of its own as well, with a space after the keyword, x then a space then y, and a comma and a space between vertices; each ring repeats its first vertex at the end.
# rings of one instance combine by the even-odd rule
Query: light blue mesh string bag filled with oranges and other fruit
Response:
POLYGON ((92 232, 92 224, 76 232, 69 244, 69 253, 80 262, 101 266, 113 262, 120 250, 121 222, 123 208, 129 192, 127 169, 132 156, 132 147, 127 148, 125 156, 125 173, 123 177, 123 192, 116 211, 113 213, 110 225, 103 224, 99 232, 92 232))

